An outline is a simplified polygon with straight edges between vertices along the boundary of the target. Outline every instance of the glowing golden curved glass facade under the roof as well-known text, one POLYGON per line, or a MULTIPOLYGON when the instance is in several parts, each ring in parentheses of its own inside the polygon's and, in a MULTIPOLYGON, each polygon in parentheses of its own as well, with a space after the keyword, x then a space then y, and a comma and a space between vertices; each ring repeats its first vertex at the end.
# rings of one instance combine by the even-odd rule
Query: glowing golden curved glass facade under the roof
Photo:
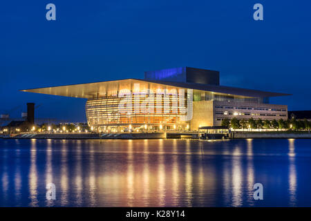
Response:
POLYGON ((256 97, 178 88, 134 79, 106 83, 86 102, 88 124, 98 131, 187 131, 192 102, 263 102, 263 99, 256 97))

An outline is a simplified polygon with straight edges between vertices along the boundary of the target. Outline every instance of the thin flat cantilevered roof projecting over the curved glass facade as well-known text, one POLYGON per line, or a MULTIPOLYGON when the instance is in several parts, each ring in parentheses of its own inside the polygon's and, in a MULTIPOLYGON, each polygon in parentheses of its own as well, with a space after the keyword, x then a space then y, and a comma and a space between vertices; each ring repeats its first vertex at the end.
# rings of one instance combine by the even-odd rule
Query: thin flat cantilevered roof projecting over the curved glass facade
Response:
POLYGON ((290 94, 285 93, 272 93, 261 90, 251 90, 245 88, 234 88, 229 86, 219 86, 211 84, 196 84, 187 82, 171 82, 171 81, 159 81, 159 80, 149 80, 149 79, 120 79, 115 81, 100 81, 87 84, 72 84, 65 86, 52 86, 46 88, 34 88, 34 89, 24 89, 20 91, 30 92, 30 93, 41 93, 46 95, 58 95, 65 97, 81 97, 81 98, 92 98, 94 95, 101 93, 106 90, 107 86, 115 85, 122 82, 150 82, 153 84, 162 84, 166 86, 173 86, 178 88, 189 88, 194 90, 204 90, 215 93, 224 93, 228 95, 240 95, 245 97, 277 97, 285 96, 290 94))

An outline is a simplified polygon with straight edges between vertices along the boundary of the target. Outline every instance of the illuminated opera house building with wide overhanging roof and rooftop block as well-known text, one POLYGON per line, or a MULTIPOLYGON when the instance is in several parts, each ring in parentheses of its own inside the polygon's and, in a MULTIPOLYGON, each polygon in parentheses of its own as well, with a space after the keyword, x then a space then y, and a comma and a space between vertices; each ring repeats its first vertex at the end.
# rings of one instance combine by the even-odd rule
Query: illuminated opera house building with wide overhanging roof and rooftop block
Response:
POLYGON ((198 68, 147 71, 144 79, 120 79, 22 90, 82 97, 95 131, 198 131, 231 119, 288 119, 286 105, 269 98, 288 94, 219 85, 219 72, 198 68))

